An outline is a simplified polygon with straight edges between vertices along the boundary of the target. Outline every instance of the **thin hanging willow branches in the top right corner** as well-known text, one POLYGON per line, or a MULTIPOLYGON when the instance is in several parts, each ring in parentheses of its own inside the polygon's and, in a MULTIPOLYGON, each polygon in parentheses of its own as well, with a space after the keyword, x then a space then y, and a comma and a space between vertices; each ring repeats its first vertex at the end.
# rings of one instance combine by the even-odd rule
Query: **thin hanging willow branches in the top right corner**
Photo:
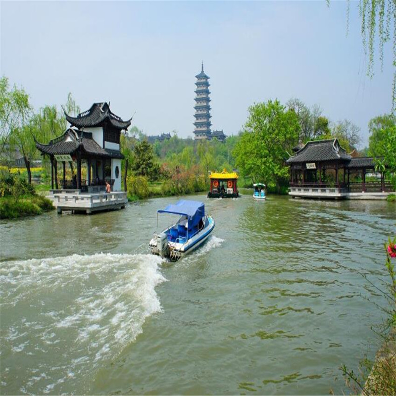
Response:
MULTIPOLYGON (((329 2, 329 0, 328 0, 329 2)), ((349 28, 349 0, 347 1, 347 31, 349 28)), ((395 0, 360 0, 360 30, 364 54, 368 56, 367 75, 374 76, 374 49, 378 40, 381 71, 384 66, 384 45, 392 40, 393 48, 393 86, 392 112, 396 110, 396 1, 395 0)))

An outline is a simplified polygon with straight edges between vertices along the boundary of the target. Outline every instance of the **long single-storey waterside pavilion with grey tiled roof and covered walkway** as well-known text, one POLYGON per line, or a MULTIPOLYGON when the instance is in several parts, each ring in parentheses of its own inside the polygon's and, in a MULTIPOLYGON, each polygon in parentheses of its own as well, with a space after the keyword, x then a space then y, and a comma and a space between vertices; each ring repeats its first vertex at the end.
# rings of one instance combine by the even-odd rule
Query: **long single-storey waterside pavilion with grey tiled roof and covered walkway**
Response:
POLYGON ((337 139, 308 142, 286 163, 293 198, 372 199, 394 191, 384 174, 376 172, 372 157, 352 157, 337 139))

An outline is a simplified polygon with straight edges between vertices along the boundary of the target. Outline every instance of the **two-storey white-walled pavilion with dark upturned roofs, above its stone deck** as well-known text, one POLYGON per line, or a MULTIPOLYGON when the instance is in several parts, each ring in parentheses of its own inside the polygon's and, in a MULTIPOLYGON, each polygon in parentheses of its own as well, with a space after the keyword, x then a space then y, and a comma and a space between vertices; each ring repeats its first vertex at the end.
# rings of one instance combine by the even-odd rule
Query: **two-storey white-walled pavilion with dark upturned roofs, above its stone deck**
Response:
POLYGON ((71 117, 66 114, 71 127, 48 144, 36 142, 36 147, 51 161, 51 189, 59 189, 58 165, 63 168, 60 181, 62 190, 97 191, 108 180, 112 191, 121 191, 120 135, 131 125, 115 115, 107 102, 94 103, 91 108, 71 117), (74 180, 66 180, 66 164, 77 165, 74 180), (82 179, 82 166, 86 177, 82 179))

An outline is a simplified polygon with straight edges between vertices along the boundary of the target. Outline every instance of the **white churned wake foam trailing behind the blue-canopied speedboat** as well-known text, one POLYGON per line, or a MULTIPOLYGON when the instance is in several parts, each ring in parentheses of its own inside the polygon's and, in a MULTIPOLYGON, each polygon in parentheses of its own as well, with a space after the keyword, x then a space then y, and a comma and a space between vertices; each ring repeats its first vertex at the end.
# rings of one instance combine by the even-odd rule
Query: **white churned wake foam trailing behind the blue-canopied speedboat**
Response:
POLYGON ((3 262, 2 367, 9 362, 9 378, 17 376, 12 361, 23 359, 31 374, 13 393, 70 392, 63 384, 71 375, 87 378, 133 342, 145 319, 161 312, 160 262, 148 254, 104 253, 3 262))

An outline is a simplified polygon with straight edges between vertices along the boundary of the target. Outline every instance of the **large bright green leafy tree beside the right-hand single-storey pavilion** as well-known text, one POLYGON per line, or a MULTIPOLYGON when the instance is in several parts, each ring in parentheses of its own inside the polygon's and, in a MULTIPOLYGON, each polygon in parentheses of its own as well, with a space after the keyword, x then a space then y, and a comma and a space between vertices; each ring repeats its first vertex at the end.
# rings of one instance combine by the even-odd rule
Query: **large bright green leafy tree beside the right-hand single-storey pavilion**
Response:
POLYGON ((289 175, 285 158, 298 142, 297 114, 278 100, 254 104, 248 111, 244 133, 235 148, 237 166, 253 181, 274 182, 279 191, 289 175))

